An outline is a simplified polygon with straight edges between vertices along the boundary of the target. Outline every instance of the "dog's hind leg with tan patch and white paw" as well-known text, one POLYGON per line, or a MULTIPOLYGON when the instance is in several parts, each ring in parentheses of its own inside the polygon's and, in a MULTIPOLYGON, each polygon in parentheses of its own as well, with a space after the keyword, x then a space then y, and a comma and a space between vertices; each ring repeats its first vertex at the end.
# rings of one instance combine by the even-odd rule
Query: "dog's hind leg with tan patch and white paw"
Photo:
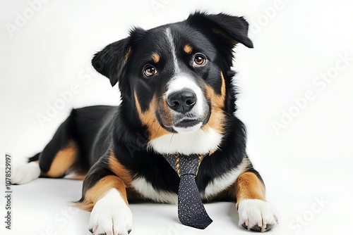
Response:
POLYGON ((12 184, 25 184, 38 177, 64 177, 67 170, 76 163, 78 147, 72 135, 71 116, 45 146, 42 153, 30 158, 30 163, 18 167, 11 178, 12 184))

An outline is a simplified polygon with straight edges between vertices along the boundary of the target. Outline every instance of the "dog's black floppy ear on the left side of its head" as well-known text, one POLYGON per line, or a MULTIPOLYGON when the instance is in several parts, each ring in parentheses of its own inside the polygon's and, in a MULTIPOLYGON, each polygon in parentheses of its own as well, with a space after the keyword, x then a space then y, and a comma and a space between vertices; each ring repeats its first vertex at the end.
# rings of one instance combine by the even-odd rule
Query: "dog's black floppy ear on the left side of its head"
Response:
POLYGON ((138 39, 141 38, 144 32, 145 30, 143 29, 133 28, 129 37, 105 46, 102 51, 95 53, 92 58, 93 68, 108 77, 112 86, 119 82, 121 94, 128 92, 128 86, 124 84, 126 82, 124 81, 125 65, 131 56, 133 46, 138 43, 138 39))

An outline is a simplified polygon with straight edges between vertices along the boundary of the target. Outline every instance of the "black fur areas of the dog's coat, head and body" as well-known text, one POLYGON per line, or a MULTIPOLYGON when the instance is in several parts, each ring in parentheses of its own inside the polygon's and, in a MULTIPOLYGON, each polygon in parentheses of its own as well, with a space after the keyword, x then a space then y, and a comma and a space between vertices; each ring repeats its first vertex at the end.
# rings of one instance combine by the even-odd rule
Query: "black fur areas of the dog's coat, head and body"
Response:
MULTIPOLYGON (((148 149, 148 129, 142 125, 133 94, 138 94, 140 108, 148 110, 152 96, 165 92, 172 76, 172 55, 167 42, 163 40, 164 30, 170 27, 175 44, 192 44, 195 51, 205 53, 212 63, 194 70, 189 66, 188 55, 178 52, 183 66, 181 69, 195 77, 201 77, 221 94, 219 71, 225 77, 225 133, 220 149, 206 156, 201 164, 196 182, 201 193, 215 177, 229 172, 246 157, 246 130, 243 123, 234 116, 236 91, 232 85, 235 72, 231 70, 233 48, 237 43, 253 47, 247 37, 248 23, 244 18, 225 14, 206 15, 194 13, 181 23, 164 25, 152 30, 134 28, 126 39, 106 46, 95 54, 93 67, 109 78, 114 86, 119 83, 122 102, 119 107, 94 106, 73 110, 66 122, 59 127, 52 141, 42 152, 40 167, 45 172, 50 165, 49 155, 54 155, 68 140, 75 140, 79 147, 78 167, 88 170, 83 194, 102 177, 114 174, 107 163, 109 151, 113 151, 119 162, 131 172, 133 178, 145 178, 155 189, 177 193, 179 177, 162 155, 148 149), (153 63, 149 57, 152 51, 161 54, 161 61, 155 67, 160 71, 157 78, 143 78, 143 67, 153 63), (50 152, 50 153, 49 153, 50 152), (47 159, 47 160, 44 160, 47 159)), ((35 160, 35 158, 33 158, 35 160)), ((249 166, 249 170, 253 170, 249 166)), ((256 172, 256 174, 258 174, 256 172)), ((259 176, 259 175, 258 175, 259 176)), ((234 200, 230 198, 222 198, 234 200)), ((81 201, 84 200, 84 197, 81 201)))

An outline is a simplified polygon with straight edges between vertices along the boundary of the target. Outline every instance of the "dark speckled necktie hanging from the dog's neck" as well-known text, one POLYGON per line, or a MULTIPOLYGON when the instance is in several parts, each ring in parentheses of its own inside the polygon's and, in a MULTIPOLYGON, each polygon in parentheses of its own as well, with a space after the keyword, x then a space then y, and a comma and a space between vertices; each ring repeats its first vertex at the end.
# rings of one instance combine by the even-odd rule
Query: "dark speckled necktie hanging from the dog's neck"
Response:
POLYGON ((178 217, 181 224, 205 229, 213 222, 201 201, 195 177, 205 155, 164 155, 180 177, 178 191, 178 217))

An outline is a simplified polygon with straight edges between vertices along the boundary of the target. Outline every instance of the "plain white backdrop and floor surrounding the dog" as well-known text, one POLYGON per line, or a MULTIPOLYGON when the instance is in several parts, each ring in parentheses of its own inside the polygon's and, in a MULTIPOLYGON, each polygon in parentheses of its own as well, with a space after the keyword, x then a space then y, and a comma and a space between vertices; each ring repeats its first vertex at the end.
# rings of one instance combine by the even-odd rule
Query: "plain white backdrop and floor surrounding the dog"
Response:
MULTIPOLYGON (((0 6, 0 154, 11 153, 13 166, 41 151, 71 108, 119 103, 117 89, 90 67, 96 51, 126 37, 132 26, 148 29, 184 20, 196 9, 223 11, 251 23, 255 48, 235 50, 238 116, 248 129, 248 152, 265 179, 268 201, 280 214, 279 226, 269 233, 352 230, 351 0, 47 0, 37 11, 30 10, 32 1, 1 1, 0 6), (20 17, 28 19, 18 25, 20 17), (10 24, 17 30, 10 33, 10 24), (71 86, 76 94, 41 124, 38 115, 47 115, 71 86), (308 92, 311 100, 303 101, 308 92), (276 132, 273 123, 281 119, 285 124, 276 132)), ((81 184, 37 179, 12 186, 13 230, 4 229, 1 196, 0 233, 90 234, 89 213, 68 207, 80 198, 81 184)), ((214 222, 201 231, 179 225, 176 205, 131 205, 131 234, 249 234, 237 227, 232 203, 205 206, 214 222)))

